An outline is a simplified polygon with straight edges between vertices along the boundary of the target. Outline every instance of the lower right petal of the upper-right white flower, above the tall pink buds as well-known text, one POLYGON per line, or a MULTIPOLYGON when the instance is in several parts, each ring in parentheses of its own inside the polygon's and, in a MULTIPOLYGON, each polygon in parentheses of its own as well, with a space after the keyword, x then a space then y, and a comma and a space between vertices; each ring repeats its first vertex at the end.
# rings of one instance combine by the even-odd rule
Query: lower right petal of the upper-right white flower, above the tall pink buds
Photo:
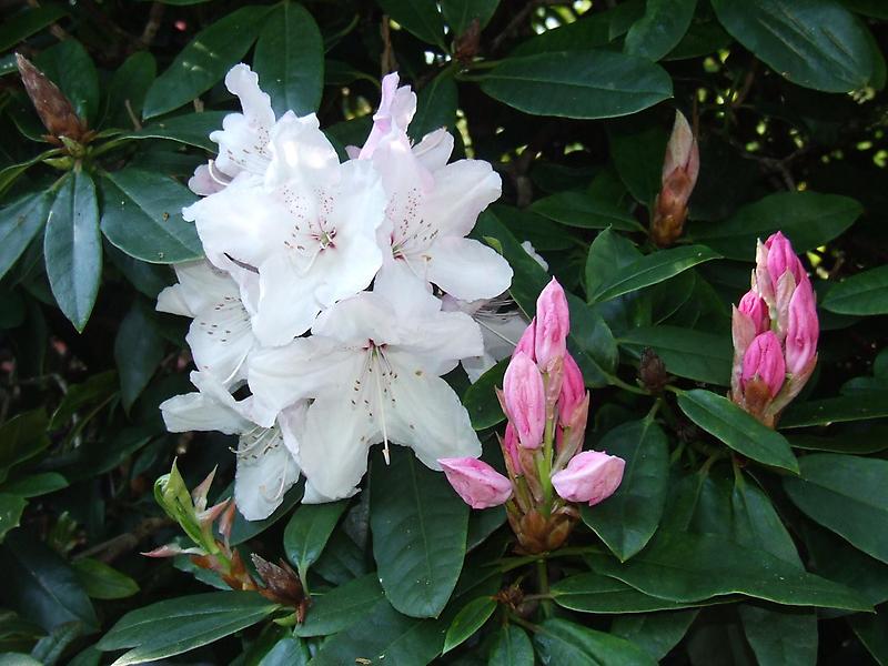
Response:
POLYGON ((492 248, 461 238, 438 239, 427 251, 428 279, 463 301, 493 299, 512 284, 512 266, 492 248))

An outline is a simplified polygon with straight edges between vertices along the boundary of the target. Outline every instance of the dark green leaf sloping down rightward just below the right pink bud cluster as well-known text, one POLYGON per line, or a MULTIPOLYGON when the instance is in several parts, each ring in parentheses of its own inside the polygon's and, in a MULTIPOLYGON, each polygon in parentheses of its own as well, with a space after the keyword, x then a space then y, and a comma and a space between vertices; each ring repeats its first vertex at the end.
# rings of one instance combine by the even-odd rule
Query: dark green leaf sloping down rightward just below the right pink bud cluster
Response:
POLYGON ((694 423, 737 453, 765 465, 798 473, 798 461, 789 442, 726 397, 695 389, 678 396, 678 406, 694 423))

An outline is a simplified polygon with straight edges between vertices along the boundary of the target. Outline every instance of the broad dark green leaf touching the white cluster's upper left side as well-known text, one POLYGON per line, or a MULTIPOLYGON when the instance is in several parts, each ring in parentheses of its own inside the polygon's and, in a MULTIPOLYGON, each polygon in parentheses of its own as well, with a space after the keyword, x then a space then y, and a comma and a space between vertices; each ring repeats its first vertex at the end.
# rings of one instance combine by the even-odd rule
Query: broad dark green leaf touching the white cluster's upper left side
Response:
POLYGON ((203 255, 194 224, 182 208, 196 199, 161 173, 124 169, 102 179, 102 231, 117 248, 142 261, 178 263, 203 255))

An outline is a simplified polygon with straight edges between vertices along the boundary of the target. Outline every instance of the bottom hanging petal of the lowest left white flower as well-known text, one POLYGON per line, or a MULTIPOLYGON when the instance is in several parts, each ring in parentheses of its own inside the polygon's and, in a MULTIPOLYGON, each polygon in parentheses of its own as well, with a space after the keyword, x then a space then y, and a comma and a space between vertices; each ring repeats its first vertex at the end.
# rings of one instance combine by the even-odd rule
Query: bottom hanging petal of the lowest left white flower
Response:
POLYGON ((238 455, 234 503, 248 521, 268 518, 299 480, 299 465, 276 431, 263 446, 238 455))

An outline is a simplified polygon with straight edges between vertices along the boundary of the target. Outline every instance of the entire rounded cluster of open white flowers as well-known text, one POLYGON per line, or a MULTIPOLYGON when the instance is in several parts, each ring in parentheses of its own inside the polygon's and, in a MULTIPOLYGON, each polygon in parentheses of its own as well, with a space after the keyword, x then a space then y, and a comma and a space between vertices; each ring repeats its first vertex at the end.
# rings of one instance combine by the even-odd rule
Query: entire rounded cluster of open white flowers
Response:
POLYGON ((443 129, 412 145, 416 95, 397 83, 385 77, 366 142, 341 163, 314 114, 275 119, 238 64, 225 84, 243 113, 210 135, 219 157, 189 182, 202 199, 183 214, 206 261, 178 265, 158 310, 193 319, 198 391, 161 410, 172 432, 240 436, 234 497, 248 519, 271 514, 300 472, 303 502, 352 495, 374 444, 386 458, 390 443, 410 446, 435 470, 480 455, 441 376, 464 360, 476 377, 524 327, 494 300, 508 264, 465 238, 500 176, 484 161, 447 163, 443 129))

